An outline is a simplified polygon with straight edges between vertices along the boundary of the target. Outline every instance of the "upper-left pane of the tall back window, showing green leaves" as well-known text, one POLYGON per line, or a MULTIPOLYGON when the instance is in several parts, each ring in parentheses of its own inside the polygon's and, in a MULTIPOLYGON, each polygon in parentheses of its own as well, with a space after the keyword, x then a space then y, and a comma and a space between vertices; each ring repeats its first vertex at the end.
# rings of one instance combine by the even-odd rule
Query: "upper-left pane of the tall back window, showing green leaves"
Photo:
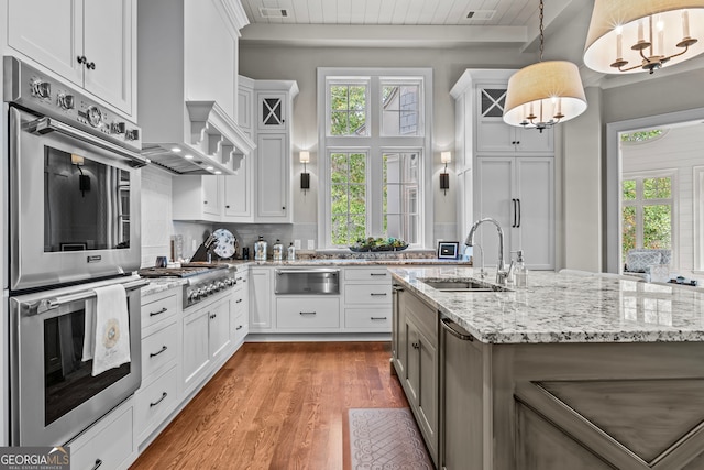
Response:
POLYGON ((365 83, 328 84, 328 135, 369 135, 369 86, 365 83))

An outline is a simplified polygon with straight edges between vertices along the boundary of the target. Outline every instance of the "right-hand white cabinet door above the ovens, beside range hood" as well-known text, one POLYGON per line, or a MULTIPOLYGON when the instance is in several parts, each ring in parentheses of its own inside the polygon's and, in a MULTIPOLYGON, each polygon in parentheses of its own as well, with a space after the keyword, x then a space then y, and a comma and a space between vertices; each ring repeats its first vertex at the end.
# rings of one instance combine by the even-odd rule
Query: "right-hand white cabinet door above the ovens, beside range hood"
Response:
POLYGON ((132 114, 135 0, 86 1, 84 7, 85 88, 132 114))

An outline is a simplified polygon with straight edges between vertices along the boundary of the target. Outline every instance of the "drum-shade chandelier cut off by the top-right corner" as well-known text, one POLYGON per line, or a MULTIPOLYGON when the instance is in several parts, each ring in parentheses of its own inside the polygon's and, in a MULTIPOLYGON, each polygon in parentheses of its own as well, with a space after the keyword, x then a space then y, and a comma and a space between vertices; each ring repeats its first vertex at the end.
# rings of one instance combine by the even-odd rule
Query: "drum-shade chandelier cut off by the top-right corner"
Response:
POLYGON ((584 64, 653 73, 704 52, 704 0, 595 0, 584 64))

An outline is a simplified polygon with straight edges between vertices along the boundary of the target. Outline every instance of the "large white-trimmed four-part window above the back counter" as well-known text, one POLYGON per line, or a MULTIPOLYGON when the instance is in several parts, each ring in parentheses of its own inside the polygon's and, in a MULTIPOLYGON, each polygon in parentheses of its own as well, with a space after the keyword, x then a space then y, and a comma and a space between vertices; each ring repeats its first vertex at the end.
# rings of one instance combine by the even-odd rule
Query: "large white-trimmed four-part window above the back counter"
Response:
POLYGON ((431 69, 318 69, 319 240, 431 240, 431 69))

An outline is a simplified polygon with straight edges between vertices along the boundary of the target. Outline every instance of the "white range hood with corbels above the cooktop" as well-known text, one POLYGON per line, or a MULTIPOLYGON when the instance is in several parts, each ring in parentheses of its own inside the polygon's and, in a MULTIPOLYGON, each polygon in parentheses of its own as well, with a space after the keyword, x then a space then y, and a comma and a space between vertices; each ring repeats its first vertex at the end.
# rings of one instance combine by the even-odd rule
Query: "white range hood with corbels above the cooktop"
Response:
POLYGON ((238 119, 238 0, 138 3, 142 154, 176 175, 232 175, 255 143, 238 119))

